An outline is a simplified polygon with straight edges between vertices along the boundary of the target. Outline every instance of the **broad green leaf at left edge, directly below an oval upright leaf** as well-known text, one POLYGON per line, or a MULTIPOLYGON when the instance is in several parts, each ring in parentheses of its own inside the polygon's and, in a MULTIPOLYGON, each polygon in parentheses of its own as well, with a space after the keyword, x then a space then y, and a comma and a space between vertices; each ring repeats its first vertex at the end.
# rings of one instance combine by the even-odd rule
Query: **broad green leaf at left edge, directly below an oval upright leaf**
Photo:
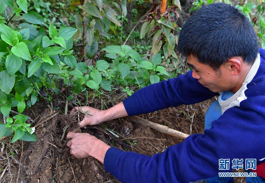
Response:
POLYGON ((6 70, 0 72, 0 89, 4 91, 6 94, 9 94, 15 84, 16 76, 9 76, 6 70))

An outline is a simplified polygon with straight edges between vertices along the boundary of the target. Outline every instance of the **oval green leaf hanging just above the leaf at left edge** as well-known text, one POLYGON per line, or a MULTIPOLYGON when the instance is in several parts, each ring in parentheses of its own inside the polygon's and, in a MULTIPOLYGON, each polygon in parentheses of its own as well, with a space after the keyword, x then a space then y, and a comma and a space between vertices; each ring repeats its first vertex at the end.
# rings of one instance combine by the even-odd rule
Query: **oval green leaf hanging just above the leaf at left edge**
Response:
POLYGON ((6 70, 9 76, 14 75, 19 67, 22 65, 22 59, 17 57, 16 55, 10 54, 6 57, 6 70))

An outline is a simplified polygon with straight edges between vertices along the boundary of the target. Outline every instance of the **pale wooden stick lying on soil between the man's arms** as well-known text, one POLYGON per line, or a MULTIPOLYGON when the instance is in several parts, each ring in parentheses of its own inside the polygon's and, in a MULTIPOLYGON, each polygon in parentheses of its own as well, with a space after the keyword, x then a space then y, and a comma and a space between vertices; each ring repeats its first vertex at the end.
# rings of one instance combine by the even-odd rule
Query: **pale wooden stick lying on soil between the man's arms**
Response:
POLYGON ((174 137, 186 139, 189 136, 186 133, 174 130, 172 128, 168 128, 167 126, 164 126, 164 125, 153 123, 151 121, 145 120, 138 116, 130 116, 130 117, 127 117, 127 119, 129 119, 131 122, 154 128, 155 130, 160 131, 161 133, 165 133, 165 134, 168 134, 174 137))

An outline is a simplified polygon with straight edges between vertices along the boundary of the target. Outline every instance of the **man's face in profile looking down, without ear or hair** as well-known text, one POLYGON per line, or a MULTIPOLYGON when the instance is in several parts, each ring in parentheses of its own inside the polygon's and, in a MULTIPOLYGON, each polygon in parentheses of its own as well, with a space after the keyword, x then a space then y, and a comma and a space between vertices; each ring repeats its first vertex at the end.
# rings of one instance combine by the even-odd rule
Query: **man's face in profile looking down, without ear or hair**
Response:
POLYGON ((187 62, 192 67, 192 77, 209 90, 222 92, 233 88, 230 72, 224 65, 215 72, 210 66, 200 63, 196 57, 187 57, 187 62))

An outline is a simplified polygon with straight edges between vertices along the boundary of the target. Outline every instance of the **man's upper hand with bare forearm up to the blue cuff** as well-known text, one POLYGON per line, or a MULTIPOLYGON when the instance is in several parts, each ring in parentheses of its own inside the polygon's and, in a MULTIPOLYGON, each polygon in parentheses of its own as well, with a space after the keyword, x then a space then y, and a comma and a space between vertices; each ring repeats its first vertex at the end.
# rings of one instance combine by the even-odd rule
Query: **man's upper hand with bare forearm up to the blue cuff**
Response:
POLYGON ((72 111, 70 111, 70 114, 74 114, 78 109, 85 115, 84 119, 80 121, 79 124, 81 128, 86 125, 98 125, 104 121, 128 116, 122 102, 103 111, 88 106, 74 107, 72 111))

